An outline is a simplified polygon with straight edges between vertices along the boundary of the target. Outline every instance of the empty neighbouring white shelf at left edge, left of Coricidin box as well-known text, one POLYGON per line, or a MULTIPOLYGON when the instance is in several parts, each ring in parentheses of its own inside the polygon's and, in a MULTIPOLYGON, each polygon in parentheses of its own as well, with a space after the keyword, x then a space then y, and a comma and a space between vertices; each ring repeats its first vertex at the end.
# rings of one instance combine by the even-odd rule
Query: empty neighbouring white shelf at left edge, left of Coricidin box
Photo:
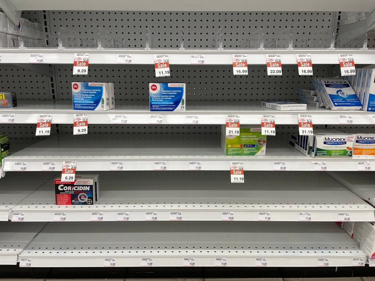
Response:
MULTIPOLYGON (((53 173, 55 175, 56 173, 53 173)), ((9 174, 0 179, 0 221, 10 218, 10 211, 52 177, 51 173, 27 172, 21 177, 9 174)))

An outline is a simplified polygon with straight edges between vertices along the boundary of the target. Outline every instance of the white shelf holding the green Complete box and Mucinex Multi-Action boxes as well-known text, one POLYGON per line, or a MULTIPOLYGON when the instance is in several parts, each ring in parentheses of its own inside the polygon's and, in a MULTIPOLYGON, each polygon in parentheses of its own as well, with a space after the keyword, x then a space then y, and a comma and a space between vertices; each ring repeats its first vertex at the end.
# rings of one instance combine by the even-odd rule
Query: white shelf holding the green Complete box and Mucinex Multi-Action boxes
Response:
MULTIPOLYGON (((108 171, 111 161, 123 161, 123 170, 154 170, 154 161, 166 161, 166 170, 189 170, 189 161, 202 161, 201 170, 229 170, 230 161, 243 161, 245 170, 273 170, 275 161, 285 161, 286 170, 312 171, 315 161, 325 161, 327 170, 357 171, 359 158, 312 158, 288 144, 287 138, 269 136, 266 155, 227 156, 220 135, 124 134, 51 136, 3 160, 3 172, 13 171, 14 163, 26 162, 27 171, 41 171, 45 161, 77 161, 77 172, 108 171)), ((375 158, 366 157, 375 167, 375 158)), ((282 171, 281 171, 282 172, 282 171)))

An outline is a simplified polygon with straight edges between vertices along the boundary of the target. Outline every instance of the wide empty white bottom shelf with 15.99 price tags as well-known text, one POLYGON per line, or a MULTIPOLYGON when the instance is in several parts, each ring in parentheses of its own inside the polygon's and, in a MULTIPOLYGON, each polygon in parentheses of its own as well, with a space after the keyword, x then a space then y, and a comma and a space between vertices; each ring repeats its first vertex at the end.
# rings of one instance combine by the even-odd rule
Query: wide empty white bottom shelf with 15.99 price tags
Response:
POLYGON ((352 266, 353 258, 366 254, 335 223, 232 222, 101 222, 48 223, 21 253, 31 267, 104 266, 115 258, 116 266, 139 267, 141 258, 152 266, 183 266, 183 258, 195 258, 195 266, 255 266, 266 257, 267 266, 352 266))

